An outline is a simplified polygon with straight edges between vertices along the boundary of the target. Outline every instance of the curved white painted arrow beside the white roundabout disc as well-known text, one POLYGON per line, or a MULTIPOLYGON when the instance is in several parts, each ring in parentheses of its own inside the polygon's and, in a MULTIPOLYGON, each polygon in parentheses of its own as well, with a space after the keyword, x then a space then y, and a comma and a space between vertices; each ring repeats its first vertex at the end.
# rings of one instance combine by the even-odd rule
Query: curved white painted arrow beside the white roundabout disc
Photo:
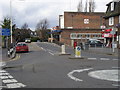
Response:
POLYGON ((79 79, 79 78, 76 78, 73 76, 74 73, 80 73, 80 72, 83 72, 83 71, 88 71, 88 70, 91 70, 93 68, 87 68, 87 69, 80 69, 80 70, 73 70, 72 72, 68 73, 68 77, 71 78, 72 80, 75 80, 75 81, 83 81, 82 79, 79 79))

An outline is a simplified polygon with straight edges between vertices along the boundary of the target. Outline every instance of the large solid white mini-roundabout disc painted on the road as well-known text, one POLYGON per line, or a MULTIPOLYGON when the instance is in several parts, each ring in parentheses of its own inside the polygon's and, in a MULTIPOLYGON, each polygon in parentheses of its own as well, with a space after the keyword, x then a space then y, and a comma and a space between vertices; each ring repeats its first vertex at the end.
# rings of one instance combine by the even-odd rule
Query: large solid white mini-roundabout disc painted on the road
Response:
POLYGON ((92 71, 88 73, 90 77, 101 79, 101 80, 108 80, 108 81, 120 81, 118 78, 120 70, 99 70, 99 71, 92 71))

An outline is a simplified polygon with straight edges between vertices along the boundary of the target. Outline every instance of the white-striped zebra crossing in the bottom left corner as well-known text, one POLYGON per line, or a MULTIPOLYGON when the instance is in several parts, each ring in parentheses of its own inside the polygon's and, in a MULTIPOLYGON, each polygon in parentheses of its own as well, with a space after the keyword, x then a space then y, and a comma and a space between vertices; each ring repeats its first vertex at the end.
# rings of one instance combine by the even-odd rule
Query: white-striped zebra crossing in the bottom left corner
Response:
POLYGON ((19 83, 12 75, 10 75, 5 70, 0 70, 0 79, 2 80, 2 85, 0 88, 23 88, 26 85, 19 83))

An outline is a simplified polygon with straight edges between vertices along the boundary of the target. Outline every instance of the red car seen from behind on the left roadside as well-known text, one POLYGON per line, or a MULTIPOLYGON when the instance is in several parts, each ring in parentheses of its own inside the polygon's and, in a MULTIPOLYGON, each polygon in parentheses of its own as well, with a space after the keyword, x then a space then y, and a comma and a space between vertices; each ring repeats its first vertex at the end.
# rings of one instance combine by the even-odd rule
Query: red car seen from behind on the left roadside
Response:
POLYGON ((18 43, 16 45, 16 52, 29 52, 28 45, 26 43, 18 43))

